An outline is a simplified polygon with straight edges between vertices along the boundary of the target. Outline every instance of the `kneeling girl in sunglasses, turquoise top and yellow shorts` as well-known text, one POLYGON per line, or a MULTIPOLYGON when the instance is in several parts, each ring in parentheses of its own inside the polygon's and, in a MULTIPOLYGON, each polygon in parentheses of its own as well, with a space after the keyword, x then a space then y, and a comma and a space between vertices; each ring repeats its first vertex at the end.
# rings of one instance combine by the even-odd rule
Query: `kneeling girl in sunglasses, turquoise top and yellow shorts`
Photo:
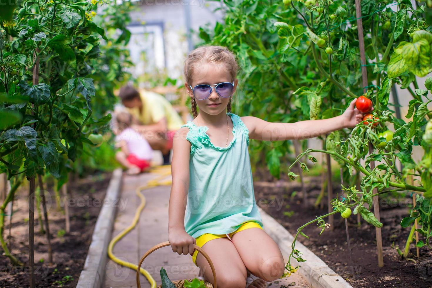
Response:
POLYGON ((210 256, 219 287, 264 288, 283 275, 285 263, 255 203, 249 139, 316 137, 354 127, 362 114, 354 99, 330 119, 271 123, 239 117, 231 113, 237 70, 235 56, 219 46, 199 47, 184 63, 194 120, 174 137, 168 241, 179 255, 190 253, 212 284, 210 266, 193 244, 210 256))

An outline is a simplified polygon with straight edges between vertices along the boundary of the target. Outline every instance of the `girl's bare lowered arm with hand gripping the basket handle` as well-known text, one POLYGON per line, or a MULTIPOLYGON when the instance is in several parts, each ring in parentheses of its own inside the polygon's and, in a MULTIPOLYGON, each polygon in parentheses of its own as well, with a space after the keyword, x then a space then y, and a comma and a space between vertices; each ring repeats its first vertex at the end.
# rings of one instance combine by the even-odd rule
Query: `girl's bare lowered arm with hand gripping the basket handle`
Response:
POLYGON ((186 135, 189 128, 182 127, 174 135, 172 142, 172 186, 168 205, 168 241, 173 252, 179 255, 194 253, 197 241, 184 229, 184 213, 189 190, 189 157, 191 143, 186 135))

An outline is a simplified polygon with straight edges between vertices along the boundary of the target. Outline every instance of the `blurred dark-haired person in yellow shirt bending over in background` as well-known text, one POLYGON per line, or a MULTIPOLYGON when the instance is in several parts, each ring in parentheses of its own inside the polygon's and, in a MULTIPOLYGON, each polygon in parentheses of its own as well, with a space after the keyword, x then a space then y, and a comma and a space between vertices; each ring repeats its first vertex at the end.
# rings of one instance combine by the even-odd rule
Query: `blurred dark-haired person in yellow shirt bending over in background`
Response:
POLYGON ((154 150, 160 150, 163 165, 169 164, 172 140, 183 120, 162 95, 132 86, 120 89, 119 97, 133 117, 133 129, 141 133, 154 150))

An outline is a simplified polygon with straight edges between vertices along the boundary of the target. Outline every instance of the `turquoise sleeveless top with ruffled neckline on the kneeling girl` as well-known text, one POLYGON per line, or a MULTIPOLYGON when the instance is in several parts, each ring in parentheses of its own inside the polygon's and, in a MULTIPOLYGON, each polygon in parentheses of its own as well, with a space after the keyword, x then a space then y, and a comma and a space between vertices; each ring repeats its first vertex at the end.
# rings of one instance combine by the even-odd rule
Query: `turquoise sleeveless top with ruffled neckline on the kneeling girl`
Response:
POLYGON ((232 141, 214 146, 206 126, 187 121, 186 139, 191 142, 189 191, 184 228, 194 238, 204 234, 229 234, 241 224, 254 221, 264 227, 254 196, 249 130, 240 117, 231 117, 232 141))

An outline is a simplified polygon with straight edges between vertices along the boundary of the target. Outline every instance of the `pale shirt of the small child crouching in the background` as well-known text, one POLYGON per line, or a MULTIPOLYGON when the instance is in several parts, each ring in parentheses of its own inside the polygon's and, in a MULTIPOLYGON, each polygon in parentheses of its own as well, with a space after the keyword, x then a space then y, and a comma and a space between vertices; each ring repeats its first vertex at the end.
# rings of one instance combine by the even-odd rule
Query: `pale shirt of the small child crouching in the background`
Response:
POLYGON ((132 128, 127 127, 119 135, 115 136, 116 142, 126 142, 130 154, 134 154, 140 159, 150 160, 153 157, 153 149, 147 139, 132 128))

